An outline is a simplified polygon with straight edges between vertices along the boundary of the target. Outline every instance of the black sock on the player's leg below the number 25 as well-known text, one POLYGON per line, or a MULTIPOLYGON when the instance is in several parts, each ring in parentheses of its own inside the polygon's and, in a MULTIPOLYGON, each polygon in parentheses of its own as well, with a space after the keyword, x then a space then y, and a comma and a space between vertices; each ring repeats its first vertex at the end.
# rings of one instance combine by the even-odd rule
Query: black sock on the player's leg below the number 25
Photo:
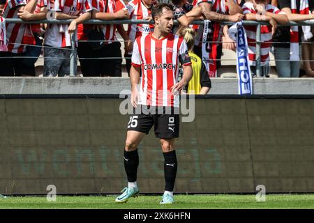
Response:
POLYGON ((138 167, 138 153, 135 151, 124 151, 124 169, 126 169, 126 176, 128 182, 135 182, 137 179, 137 167, 138 167))

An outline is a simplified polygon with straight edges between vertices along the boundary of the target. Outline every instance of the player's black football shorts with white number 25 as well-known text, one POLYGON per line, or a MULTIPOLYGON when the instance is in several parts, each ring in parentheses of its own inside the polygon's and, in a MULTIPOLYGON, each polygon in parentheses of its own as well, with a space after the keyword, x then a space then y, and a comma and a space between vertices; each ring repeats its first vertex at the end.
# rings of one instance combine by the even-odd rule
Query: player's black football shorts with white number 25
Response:
POLYGON ((179 112, 177 111, 179 111, 179 109, 173 107, 158 108, 146 105, 137 105, 136 111, 134 109, 133 114, 130 115, 130 119, 128 121, 128 131, 132 130, 149 134, 149 130, 151 130, 151 127, 154 125, 157 138, 178 138, 180 120, 179 112), (176 112, 174 112, 174 109, 176 112))

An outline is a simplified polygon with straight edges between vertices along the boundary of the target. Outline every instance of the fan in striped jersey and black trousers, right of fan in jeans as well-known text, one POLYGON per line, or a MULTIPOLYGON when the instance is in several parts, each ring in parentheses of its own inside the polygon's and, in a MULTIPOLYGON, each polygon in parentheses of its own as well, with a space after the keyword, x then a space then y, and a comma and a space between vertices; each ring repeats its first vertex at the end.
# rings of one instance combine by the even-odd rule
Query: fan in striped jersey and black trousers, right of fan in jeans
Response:
MULTIPOLYGON (((121 0, 92 0, 92 6, 93 19, 128 19, 128 11, 121 0)), ((122 24, 80 24, 77 27, 79 40, 98 41, 78 43, 77 54, 84 77, 121 76, 121 45, 116 37, 116 29, 120 30, 121 26, 122 24), (108 59, 109 57, 116 59, 108 59)))

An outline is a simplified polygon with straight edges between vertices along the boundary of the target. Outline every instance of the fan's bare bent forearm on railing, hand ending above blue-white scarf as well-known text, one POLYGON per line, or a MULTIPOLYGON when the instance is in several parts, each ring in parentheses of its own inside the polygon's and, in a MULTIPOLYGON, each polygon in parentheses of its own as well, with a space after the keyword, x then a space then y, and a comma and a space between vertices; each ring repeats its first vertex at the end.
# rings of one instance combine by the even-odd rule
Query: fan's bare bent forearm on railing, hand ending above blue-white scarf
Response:
POLYGON ((244 17, 244 15, 241 13, 237 13, 235 15, 223 15, 216 13, 211 10, 212 3, 202 2, 199 4, 199 6, 202 8, 202 14, 207 18, 207 20, 239 22, 244 17))

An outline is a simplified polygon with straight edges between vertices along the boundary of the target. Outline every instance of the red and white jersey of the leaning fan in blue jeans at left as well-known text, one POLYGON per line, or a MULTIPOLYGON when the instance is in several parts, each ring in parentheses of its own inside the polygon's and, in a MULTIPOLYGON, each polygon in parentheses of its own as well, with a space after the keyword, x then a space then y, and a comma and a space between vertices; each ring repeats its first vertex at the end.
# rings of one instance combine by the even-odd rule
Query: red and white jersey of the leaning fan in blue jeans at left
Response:
MULTIPOLYGON (((93 10, 91 0, 54 0, 50 10, 66 13, 67 15, 80 15, 93 10)), ((77 41, 77 36, 75 37, 77 41)), ((45 45, 52 47, 70 47, 71 39, 68 33, 68 24, 48 24, 45 33, 45 45)))

